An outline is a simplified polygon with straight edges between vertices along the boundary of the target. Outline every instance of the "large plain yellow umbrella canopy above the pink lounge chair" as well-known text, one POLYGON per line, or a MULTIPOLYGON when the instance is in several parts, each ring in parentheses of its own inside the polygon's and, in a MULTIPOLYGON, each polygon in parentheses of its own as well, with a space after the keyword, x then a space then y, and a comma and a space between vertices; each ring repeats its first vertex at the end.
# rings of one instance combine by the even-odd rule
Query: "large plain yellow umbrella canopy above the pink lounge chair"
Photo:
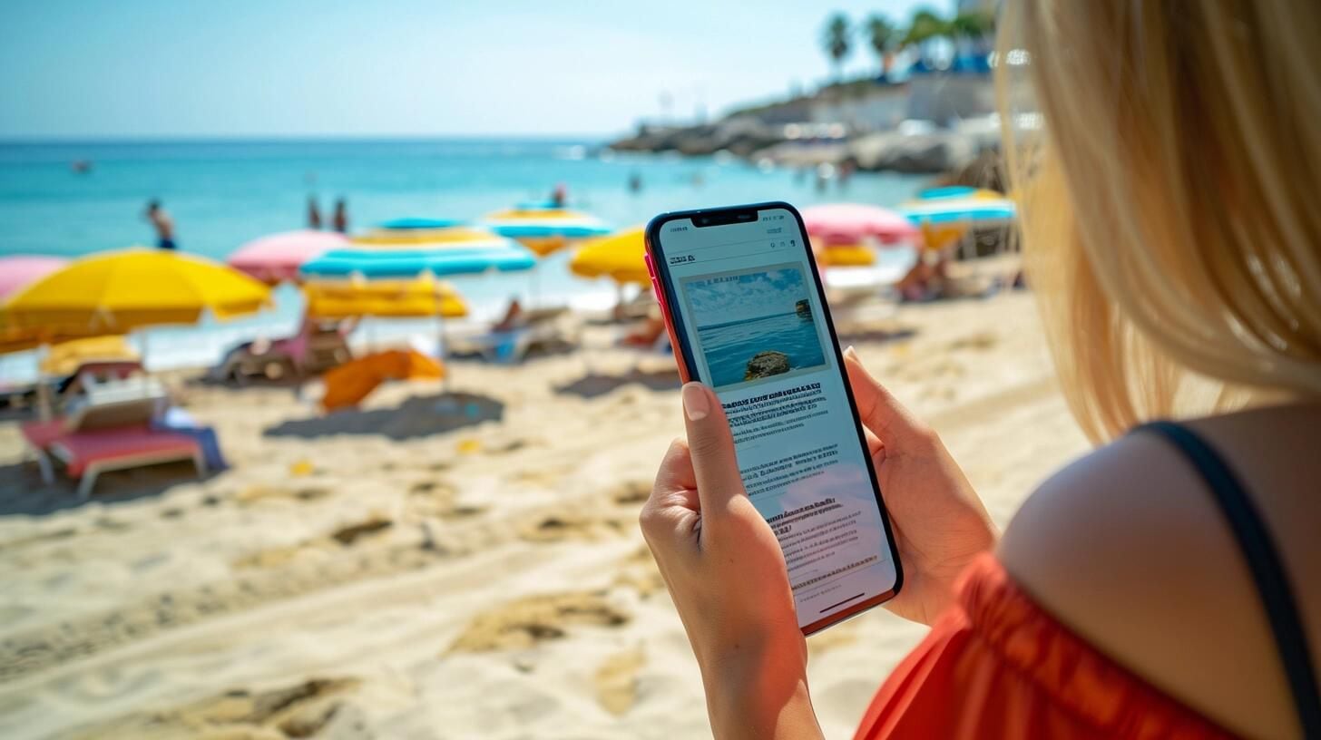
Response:
POLYGON ((85 256, 28 285, 4 305, 0 324, 44 337, 123 333, 193 324, 267 305, 269 289, 217 262, 133 247, 85 256))

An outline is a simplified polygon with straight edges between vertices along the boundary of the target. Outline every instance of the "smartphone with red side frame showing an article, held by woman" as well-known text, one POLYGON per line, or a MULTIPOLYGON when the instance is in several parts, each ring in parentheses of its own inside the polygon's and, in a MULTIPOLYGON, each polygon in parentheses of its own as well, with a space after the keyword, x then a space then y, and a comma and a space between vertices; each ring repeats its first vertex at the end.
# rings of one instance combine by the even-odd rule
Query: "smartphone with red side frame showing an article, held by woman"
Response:
POLYGON ((811 634, 900 592, 900 567, 803 219, 783 202, 664 213, 646 260, 684 382, 715 390, 811 634))

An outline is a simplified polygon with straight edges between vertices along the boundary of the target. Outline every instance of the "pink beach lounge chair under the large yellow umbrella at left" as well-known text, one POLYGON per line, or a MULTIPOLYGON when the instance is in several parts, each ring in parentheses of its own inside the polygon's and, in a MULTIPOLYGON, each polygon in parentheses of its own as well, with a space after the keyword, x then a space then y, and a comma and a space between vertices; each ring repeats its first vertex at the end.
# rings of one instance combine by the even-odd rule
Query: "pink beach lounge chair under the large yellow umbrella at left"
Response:
POLYGON ((196 439, 151 428, 165 403, 155 379, 135 378, 92 386, 85 403, 67 415, 21 426, 22 437, 37 459, 41 480, 54 482, 52 460, 59 460, 78 478, 78 497, 87 500, 96 478, 110 470, 192 460, 198 476, 206 460, 196 439))

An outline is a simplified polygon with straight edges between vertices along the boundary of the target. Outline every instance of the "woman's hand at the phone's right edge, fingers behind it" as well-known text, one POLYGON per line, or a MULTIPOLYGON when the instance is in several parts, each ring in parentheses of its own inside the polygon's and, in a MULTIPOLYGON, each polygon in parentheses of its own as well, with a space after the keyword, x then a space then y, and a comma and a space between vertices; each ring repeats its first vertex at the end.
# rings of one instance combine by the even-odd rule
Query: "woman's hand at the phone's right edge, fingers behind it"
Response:
POLYGON ((941 437, 867 373, 853 348, 844 367, 904 564, 904 588, 885 608, 929 625, 952 600, 954 579, 999 533, 941 437))

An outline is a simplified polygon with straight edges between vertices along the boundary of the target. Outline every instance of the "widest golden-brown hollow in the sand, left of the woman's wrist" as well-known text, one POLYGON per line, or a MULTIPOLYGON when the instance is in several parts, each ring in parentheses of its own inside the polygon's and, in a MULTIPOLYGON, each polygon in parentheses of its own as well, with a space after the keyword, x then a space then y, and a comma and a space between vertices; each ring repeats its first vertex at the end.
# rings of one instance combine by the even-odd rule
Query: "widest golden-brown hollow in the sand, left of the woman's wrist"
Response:
POLYGON ((473 617, 448 653, 522 650, 559 640, 571 626, 621 626, 630 618, 600 591, 530 596, 473 617))

